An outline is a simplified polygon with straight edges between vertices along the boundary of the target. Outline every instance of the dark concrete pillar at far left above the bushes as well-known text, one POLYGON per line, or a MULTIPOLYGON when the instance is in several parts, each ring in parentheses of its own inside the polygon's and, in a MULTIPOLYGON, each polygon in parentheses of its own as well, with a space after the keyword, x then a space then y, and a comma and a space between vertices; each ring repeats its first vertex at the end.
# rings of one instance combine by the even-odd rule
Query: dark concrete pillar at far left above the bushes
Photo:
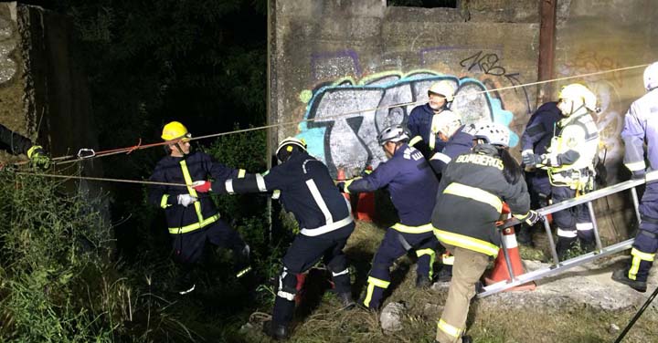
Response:
MULTIPOLYGON (((64 16, 32 5, 0 4, 0 123, 43 145, 55 157, 98 147, 90 94, 64 16)), ((0 161, 26 160, 0 152, 0 161)), ((101 176, 101 162, 58 172, 101 176)), ((50 171, 55 172, 55 171, 50 171)), ((99 183, 71 182, 71 191, 100 193, 99 183)))

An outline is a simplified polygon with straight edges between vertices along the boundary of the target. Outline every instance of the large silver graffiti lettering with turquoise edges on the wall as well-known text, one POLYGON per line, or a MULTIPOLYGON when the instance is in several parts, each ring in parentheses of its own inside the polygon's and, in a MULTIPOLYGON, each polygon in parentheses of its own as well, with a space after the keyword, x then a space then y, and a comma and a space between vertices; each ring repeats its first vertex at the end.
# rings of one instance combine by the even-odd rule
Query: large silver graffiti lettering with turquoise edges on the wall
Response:
MULTIPOLYGON (((360 80, 342 78, 303 91, 300 99, 307 103, 307 121, 300 124, 297 137, 307 141, 309 152, 324 161, 334 176, 338 169, 351 177, 366 166, 377 168, 386 160, 377 134, 389 125, 406 123, 416 105, 409 103, 423 102, 430 85, 440 80, 451 82, 457 89, 451 109, 462 115, 464 123, 484 120, 509 125, 512 121, 512 112, 503 109, 501 100, 493 98, 475 78, 431 70, 385 72, 360 80)), ((515 146, 518 136, 511 134, 511 145, 515 146)))

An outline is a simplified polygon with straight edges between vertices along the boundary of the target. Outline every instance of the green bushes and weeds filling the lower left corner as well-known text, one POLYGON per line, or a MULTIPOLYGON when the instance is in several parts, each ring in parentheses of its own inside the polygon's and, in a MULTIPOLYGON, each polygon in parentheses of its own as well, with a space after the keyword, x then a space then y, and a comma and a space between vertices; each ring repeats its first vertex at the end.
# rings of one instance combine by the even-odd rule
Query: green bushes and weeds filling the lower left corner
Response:
POLYGON ((193 334, 140 268, 111 261, 101 199, 0 172, 0 341, 184 341, 193 334))

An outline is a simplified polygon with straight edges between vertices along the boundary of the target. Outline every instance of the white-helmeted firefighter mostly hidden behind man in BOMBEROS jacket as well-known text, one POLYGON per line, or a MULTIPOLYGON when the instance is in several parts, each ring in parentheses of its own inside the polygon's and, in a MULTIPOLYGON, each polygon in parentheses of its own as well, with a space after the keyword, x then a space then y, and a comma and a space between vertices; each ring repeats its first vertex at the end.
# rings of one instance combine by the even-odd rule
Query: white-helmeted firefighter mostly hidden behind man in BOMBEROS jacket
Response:
MULTIPOLYGON (((461 116, 451 111, 445 111, 440 115, 437 129, 439 139, 444 142, 445 146, 440 152, 434 153, 430 159, 430 165, 440 180, 441 172, 452 159, 471 151, 475 126, 473 124, 462 125, 461 116)), ((454 256, 446 250, 440 255, 439 260, 442 266, 437 280, 450 281, 454 256)))

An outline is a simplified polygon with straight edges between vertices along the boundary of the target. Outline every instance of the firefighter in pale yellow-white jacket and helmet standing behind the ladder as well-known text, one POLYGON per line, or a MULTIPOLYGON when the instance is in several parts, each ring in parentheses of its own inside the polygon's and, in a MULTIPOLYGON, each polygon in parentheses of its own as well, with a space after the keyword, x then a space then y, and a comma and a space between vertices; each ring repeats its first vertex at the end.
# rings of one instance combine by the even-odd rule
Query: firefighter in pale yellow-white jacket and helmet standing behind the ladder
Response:
MULTIPOLYGON (((594 185, 594 160, 599 149, 599 130, 591 114, 598 111, 597 99, 587 87, 578 83, 563 87, 557 108, 562 119, 557 121, 557 134, 545 154, 526 153, 526 166, 547 170, 551 183, 551 199, 560 203, 589 192, 594 185)), ((589 251, 594 247, 594 225, 585 204, 553 213, 557 224, 557 255, 560 259, 580 241, 589 251)))

